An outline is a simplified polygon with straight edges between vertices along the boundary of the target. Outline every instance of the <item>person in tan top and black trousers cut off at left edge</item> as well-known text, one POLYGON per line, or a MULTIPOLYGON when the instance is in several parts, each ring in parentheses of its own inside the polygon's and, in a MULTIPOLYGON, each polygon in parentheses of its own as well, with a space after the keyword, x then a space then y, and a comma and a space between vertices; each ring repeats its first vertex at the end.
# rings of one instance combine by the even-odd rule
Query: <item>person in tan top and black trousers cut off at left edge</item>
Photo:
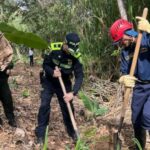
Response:
MULTIPOLYGON (((17 127, 14 116, 12 95, 8 84, 9 72, 13 68, 13 63, 11 62, 12 55, 13 49, 11 45, 3 34, 0 33, 0 100, 9 125, 17 127)), ((1 118, 0 124, 2 125, 1 118)))

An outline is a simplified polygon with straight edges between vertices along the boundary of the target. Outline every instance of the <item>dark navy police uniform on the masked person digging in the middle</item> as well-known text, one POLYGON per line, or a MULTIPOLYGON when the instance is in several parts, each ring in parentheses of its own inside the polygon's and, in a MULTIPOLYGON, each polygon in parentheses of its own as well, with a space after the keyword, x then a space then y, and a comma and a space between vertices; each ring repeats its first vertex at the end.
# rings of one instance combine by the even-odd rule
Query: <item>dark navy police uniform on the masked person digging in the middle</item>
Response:
MULTIPOLYGON (((49 123, 51 110, 50 102, 54 93, 56 93, 58 97, 68 135, 73 137, 75 133, 70 120, 66 102, 63 99, 63 91, 61 89, 59 80, 58 78, 53 77, 53 72, 56 66, 58 66, 61 70, 62 79, 67 92, 73 92, 73 94, 76 95, 83 82, 83 68, 79 58, 75 58, 72 55, 65 53, 62 49, 52 51, 48 56, 45 56, 43 63, 45 77, 42 81, 43 90, 41 91, 41 105, 38 113, 38 126, 35 130, 38 138, 44 138, 45 130, 49 123), (75 76, 75 83, 72 88, 71 78, 73 74, 75 76)), ((70 103, 74 112, 73 103, 70 103)))

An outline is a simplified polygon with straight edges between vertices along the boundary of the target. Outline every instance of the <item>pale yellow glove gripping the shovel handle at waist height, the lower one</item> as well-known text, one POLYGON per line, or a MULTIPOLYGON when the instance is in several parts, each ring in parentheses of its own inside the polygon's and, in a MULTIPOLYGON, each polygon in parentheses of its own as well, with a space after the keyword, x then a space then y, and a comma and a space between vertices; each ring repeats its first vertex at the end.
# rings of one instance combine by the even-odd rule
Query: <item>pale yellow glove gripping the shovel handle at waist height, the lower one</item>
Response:
POLYGON ((133 88, 135 86, 135 81, 137 78, 130 75, 123 75, 119 79, 119 83, 124 84, 125 87, 133 88))

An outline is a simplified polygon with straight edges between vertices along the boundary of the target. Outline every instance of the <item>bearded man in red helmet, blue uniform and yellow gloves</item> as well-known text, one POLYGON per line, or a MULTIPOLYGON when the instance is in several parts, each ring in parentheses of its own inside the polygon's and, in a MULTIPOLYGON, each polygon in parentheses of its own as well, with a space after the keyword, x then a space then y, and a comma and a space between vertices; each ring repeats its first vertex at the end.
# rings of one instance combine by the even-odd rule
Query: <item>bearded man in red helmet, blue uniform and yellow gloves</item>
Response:
MULTIPOLYGON (((150 24, 142 17, 137 19, 139 19, 138 29, 144 32, 134 76, 128 74, 138 33, 133 29, 132 23, 118 19, 112 24, 110 35, 114 44, 122 49, 120 67, 122 76, 119 82, 125 87, 133 88, 131 108, 134 135, 144 150, 145 130, 150 131, 150 24)), ((136 150, 138 150, 137 147, 136 150)))

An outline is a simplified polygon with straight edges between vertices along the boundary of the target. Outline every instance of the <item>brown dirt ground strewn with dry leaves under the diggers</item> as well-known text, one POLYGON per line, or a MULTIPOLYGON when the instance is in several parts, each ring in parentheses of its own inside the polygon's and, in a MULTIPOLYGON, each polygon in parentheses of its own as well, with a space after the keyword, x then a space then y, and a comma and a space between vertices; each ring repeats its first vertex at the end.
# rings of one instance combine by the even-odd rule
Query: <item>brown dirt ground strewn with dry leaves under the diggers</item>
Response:
MULTIPOLYGON (((3 126, 0 127, 0 150, 40 150, 36 145, 34 134, 37 125, 37 113, 40 105, 40 81, 39 72, 41 66, 29 67, 28 64, 16 64, 9 78, 12 96, 15 106, 15 116, 18 128, 11 128, 0 106, 0 116, 3 119, 3 126)), ((93 81, 93 83, 96 81, 93 81)), ((86 82, 84 87, 91 87, 91 82, 86 82)), ((109 86, 107 84, 107 86, 109 86)), ((105 85, 103 90, 105 89, 105 85)), ((86 88, 84 88, 86 90, 86 88)), ((100 104, 107 106, 109 112, 100 117, 91 118, 90 113, 85 110, 81 100, 74 100, 75 116, 81 138, 87 143, 90 150, 112 150, 112 133, 116 118, 119 119, 121 102, 117 101, 117 88, 114 88, 116 95, 108 97, 109 100, 101 101, 100 104)), ((88 93, 88 91, 86 91, 88 93)), ((111 93, 111 91, 110 91, 111 93)), ((100 94, 97 94, 100 99, 100 94)), ((105 97, 106 99, 107 97, 105 97)), ((104 98, 103 98, 104 99, 104 98)), ((68 137, 62 120, 62 115, 56 97, 51 103, 51 116, 48 133, 49 150, 73 150, 75 145, 68 137)), ((124 127, 121 134, 122 149, 128 150, 133 146, 133 130, 130 121, 131 111, 128 108, 124 127)), ((147 142, 149 143, 149 141, 147 142)), ((148 148, 150 149, 150 148, 148 148)), ((84 150, 84 149, 83 149, 84 150)), ((130 149, 131 150, 131 149, 130 149)))

